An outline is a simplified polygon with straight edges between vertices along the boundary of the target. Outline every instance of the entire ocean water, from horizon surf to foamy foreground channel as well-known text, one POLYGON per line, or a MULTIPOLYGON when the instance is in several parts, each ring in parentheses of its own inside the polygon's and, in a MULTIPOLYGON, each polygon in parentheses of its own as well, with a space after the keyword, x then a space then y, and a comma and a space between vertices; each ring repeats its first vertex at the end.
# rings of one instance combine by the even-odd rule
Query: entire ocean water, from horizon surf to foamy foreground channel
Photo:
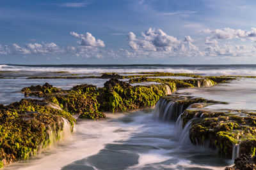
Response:
MULTIPOLYGON (((100 76, 101 73, 129 75, 140 72, 193 73, 202 76, 256 76, 256 65, 0 65, 0 103, 24 98, 23 87, 50 83, 62 89, 88 83, 103 87, 102 78, 47 78, 33 76, 100 76)), ((123 80, 127 81, 127 80, 123 80)), ((191 96, 228 104, 210 109, 256 110, 256 79, 238 78, 214 87, 179 89, 191 96)), ((78 120, 76 131, 38 156, 4 169, 224 169, 232 160, 216 150, 180 143, 175 122, 154 117, 154 108, 107 113, 102 121, 78 120)), ((186 132, 184 132, 186 133, 186 132)), ((180 134, 180 136, 182 136, 180 134)))

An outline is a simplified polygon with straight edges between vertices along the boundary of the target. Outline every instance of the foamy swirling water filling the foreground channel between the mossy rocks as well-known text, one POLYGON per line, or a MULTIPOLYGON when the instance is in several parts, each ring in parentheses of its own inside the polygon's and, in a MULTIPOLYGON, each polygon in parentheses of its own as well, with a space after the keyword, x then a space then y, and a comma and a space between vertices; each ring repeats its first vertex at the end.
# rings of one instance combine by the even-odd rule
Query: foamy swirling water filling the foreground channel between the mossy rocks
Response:
POLYGON ((69 141, 4 169, 214 169, 230 165, 207 148, 180 146, 174 123, 159 122, 141 111, 108 115, 108 120, 100 122, 79 120, 69 141))

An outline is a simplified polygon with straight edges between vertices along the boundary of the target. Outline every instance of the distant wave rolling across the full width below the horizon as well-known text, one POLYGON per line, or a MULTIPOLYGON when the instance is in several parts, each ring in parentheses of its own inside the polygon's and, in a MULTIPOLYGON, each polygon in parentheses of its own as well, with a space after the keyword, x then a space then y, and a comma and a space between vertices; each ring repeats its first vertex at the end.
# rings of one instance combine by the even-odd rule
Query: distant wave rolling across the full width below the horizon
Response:
POLYGON ((170 72, 193 73, 205 76, 256 76, 255 65, 58 65, 58 66, 22 66, 0 64, 0 71, 19 72, 58 72, 69 73, 138 73, 138 72, 170 72))

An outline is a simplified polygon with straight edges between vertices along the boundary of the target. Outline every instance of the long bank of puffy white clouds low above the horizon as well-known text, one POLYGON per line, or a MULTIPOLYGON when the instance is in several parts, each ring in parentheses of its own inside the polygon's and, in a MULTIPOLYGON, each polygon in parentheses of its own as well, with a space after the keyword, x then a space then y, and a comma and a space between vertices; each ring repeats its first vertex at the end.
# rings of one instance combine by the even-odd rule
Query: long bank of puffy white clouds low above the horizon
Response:
MULTIPOLYGON (((241 29, 205 29, 205 41, 193 39, 191 36, 177 38, 166 34, 161 29, 149 28, 136 36, 133 32, 127 34, 127 48, 106 49, 104 41, 95 38, 90 32, 78 34, 70 32, 77 38, 77 44, 58 46, 56 43, 25 43, 20 46, 0 45, 0 55, 31 55, 52 54, 60 59, 62 55, 83 58, 118 58, 118 57, 255 57, 256 48, 253 45, 256 38, 256 28, 250 31, 241 29), (241 44, 232 39, 241 39, 241 44), (222 40, 222 41, 221 41, 222 40), (251 41, 248 45, 246 40, 251 41), (246 44, 247 43, 247 44, 246 44)), ((112 35, 115 36, 115 35, 112 35)))

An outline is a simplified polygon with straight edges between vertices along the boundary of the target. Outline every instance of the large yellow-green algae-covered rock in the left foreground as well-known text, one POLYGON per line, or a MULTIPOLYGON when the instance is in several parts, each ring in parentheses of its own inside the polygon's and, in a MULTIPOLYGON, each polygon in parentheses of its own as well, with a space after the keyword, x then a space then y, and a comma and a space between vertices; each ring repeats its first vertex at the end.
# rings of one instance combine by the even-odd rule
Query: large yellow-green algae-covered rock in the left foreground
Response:
POLYGON ((63 110, 47 106, 45 101, 22 99, 0 108, 0 164, 5 166, 17 160, 36 155, 51 143, 50 132, 56 139, 63 131, 63 117, 74 118, 63 110))

